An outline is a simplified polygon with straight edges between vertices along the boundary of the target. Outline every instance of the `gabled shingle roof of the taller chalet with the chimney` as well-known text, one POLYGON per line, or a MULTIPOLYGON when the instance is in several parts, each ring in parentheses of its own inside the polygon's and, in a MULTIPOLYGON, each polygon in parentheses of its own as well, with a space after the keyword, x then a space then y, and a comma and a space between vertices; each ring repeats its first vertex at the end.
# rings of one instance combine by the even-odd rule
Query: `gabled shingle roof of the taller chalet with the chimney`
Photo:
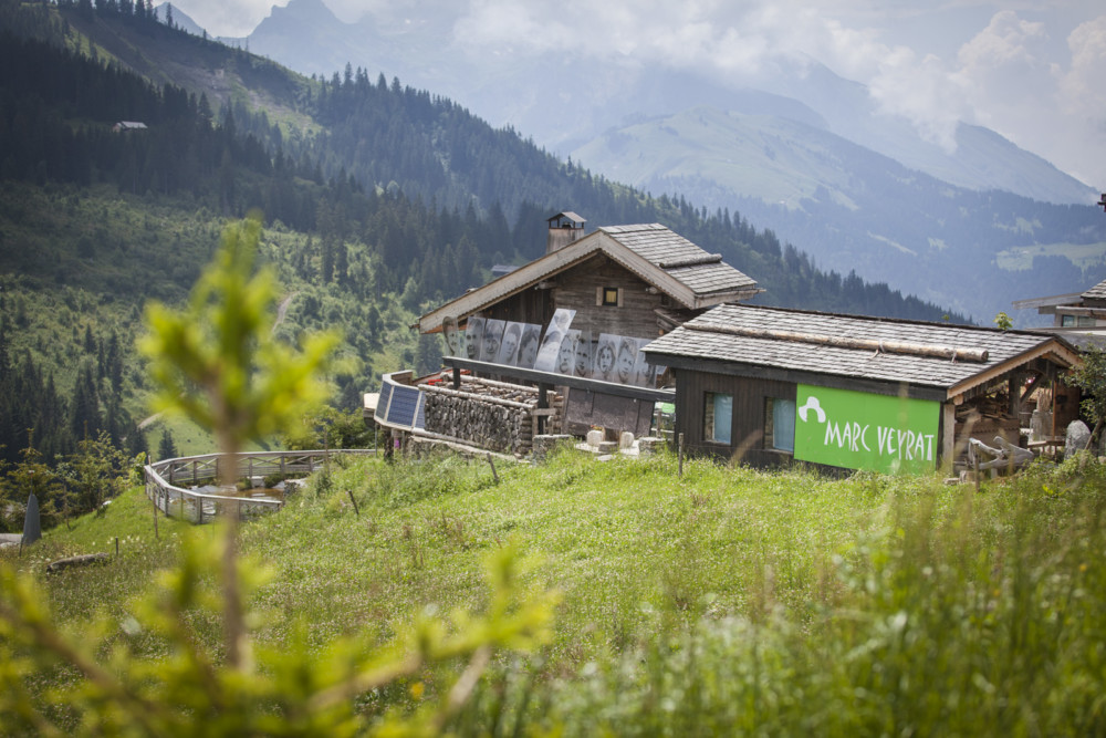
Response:
POLYGON ((692 310, 747 300, 763 291, 720 254, 708 253, 665 226, 608 226, 422 315, 419 331, 438 331, 447 316, 465 319, 599 253, 692 310))

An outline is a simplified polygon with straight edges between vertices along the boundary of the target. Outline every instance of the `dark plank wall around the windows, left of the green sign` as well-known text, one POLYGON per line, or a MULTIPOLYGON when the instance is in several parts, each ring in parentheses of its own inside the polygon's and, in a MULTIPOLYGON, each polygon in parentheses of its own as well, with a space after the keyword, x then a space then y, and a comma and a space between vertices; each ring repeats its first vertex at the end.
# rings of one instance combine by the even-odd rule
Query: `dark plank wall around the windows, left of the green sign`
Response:
POLYGON ((772 467, 792 460, 791 454, 764 448, 764 401, 794 401, 796 385, 778 380, 753 380, 710 372, 672 370, 676 373, 676 434, 684 434, 689 454, 714 456, 734 464, 772 467), (733 395, 730 444, 703 438, 705 394, 733 395))

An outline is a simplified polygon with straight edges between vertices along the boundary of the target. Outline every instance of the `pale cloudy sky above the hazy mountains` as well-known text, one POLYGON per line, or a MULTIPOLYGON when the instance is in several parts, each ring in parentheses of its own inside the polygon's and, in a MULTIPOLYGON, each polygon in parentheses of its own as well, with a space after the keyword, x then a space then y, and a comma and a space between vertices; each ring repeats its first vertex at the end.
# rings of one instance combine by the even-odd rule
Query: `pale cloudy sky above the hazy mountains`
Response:
MULTIPOLYGON (((346 22, 452 19, 459 51, 497 49, 504 62, 571 42, 597 62, 662 60, 755 83, 782 63, 814 59, 867 85, 880 111, 906 117, 931 141, 951 148, 957 122, 975 123, 1106 190, 1102 0, 324 2, 346 22)), ((272 4, 174 2, 209 33, 230 37, 248 35, 272 4)))

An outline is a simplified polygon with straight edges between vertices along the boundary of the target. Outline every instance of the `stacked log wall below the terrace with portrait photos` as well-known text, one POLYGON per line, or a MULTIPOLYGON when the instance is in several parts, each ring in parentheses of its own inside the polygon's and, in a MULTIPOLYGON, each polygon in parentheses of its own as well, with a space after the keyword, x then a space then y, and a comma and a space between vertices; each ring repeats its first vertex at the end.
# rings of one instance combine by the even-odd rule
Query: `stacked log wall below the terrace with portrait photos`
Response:
MULTIPOLYGON (((465 377, 460 389, 451 384, 420 388, 427 433, 501 454, 525 456, 533 449, 536 388, 476 377, 465 377)), ((563 398, 550 392, 547 401, 545 433, 560 433, 563 398)))

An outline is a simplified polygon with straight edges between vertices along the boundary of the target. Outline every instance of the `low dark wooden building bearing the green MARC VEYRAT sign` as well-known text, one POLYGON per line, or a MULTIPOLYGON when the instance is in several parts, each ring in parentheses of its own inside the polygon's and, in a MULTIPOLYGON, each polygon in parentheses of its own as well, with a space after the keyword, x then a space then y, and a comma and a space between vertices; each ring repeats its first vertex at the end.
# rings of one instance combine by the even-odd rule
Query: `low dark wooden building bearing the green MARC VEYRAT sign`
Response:
POLYGON ((968 437, 1016 444, 1034 403, 1078 404, 1057 382, 1077 352, 1024 331, 721 305, 643 351, 675 375, 686 447, 758 467, 933 470, 968 437))

